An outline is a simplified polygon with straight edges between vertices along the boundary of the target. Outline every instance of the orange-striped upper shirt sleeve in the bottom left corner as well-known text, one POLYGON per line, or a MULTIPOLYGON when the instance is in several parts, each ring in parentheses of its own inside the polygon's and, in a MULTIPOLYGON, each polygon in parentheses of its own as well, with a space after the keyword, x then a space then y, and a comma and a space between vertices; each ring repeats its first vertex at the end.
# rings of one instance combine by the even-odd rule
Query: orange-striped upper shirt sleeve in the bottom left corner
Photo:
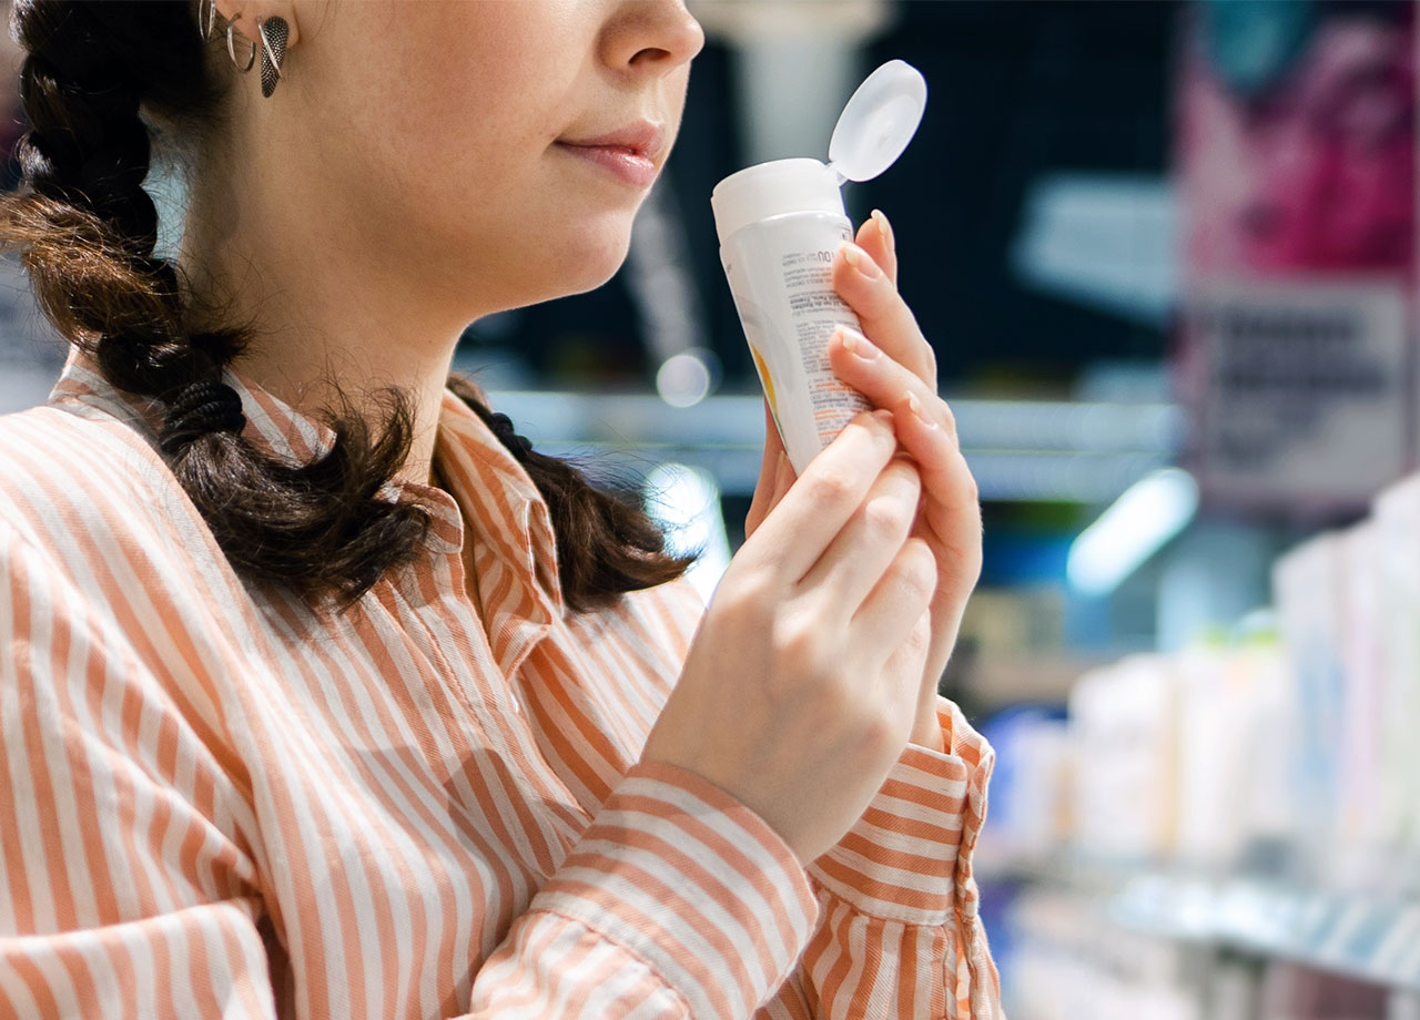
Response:
POLYGON ((203 714, 0 525, 0 1016, 275 1020, 203 714), (195 804, 204 804, 199 811, 195 804))

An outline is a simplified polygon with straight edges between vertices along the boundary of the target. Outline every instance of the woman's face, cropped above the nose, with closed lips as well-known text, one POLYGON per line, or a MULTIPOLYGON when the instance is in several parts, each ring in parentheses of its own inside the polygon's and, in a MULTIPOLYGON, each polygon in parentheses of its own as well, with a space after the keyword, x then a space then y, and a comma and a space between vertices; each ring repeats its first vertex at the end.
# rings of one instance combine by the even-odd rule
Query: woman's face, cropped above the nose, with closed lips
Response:
POLYGON ((562 142, 649 122, 659 172, 704 44, 683 0, 297 0, 294 14, 284 79, 254 102, 366 257, 470 318, 611 278, 649 186, 562 142))

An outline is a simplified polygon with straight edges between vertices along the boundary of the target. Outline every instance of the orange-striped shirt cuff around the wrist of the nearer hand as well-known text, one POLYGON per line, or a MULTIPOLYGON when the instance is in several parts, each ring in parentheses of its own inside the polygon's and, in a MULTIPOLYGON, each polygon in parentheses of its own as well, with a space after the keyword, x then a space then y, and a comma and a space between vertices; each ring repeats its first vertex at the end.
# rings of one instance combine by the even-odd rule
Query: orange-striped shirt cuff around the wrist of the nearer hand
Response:
POLYGON ((581 921, 700 1017, 743 1017, 790 976, 814 888, 758 814, 697 773, 632 766, 530 909, 581 921))

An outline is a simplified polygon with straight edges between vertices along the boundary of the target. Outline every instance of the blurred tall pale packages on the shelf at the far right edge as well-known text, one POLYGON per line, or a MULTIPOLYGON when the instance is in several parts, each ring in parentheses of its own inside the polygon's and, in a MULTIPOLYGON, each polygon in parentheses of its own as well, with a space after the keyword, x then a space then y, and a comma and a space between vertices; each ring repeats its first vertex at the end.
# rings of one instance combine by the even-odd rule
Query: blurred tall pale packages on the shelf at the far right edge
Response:
MULTIPOLYGON (((1383 491, 1373 514, 1284 556, 1275 594, 1292 682, 1294 800, 1350 885, 1416 894, 1420 874, 1420 477, 1383 491), (1384 875, 1384 878, 1382 878, 1384 875)), ((1299 831, 1299 837, 1305 833, 1299 831)), ((1321 860, 1314 861, 1319 867, 1321 860)))

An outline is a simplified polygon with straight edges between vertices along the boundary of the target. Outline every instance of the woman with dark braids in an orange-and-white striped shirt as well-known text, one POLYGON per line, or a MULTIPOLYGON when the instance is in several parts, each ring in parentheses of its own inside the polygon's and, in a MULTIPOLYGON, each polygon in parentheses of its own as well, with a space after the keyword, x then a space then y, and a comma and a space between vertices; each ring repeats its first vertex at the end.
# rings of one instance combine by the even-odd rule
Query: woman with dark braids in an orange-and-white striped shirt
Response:
POLYGON ((880 349, 832 346, 885 410, 797 481, 768 430, 709 610, 449 376, 622 261, 680 0, 14 31, 4 235, 74 349, 0 418, 0 1013, 995 1016, 991 753, 934 687, 980 518, 886 223, 834 270, 880 349))

